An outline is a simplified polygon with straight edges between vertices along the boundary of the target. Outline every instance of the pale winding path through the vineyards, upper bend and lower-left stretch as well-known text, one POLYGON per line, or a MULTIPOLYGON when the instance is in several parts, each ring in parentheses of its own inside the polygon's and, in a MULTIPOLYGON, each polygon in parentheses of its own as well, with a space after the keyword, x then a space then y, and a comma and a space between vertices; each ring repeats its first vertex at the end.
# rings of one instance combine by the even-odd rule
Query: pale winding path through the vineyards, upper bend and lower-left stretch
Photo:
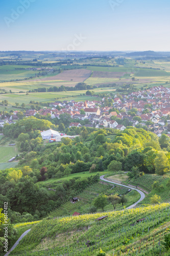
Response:
MULTIPOLYGON (((137 188, 134 188, 134 187, 131 187, 131 186, 126 186, 126 185, 123 185, 123 184, 120 184, 120 183, 116 183, 116 182, 113 182, 113 181, 108 181, 108 180, 106 180, 106 179, 104 178, 104 176, 105 176, 105 175, 102 175, 102 176, 100 177, 100 179, 101 179, 102 181, 106 181, 106 182, 109 182, 109 183, 113 183, 113 184, 116 184, 116 185, 119 185, 119 186, 123 186, 123 187, 127 187, 127 188, 130 188, 130 189, 136 190, 136 191, 140 194, 140 199, 139 199, 136 203, 134 203, 134 204, 130 205, 129 207, 127 207, 126 209, 131 209, 131 208, 135 207, 136 204, 138 204, 139 202, 141 202, 141 201, 145 198, 145 195, 144 195, 144 193, 143 193, 141 190, 139 190, 139 189, 137 189, 137 188)), ((19 241, 20 241, 23 237, 25 237, 26 234, 27 234, 28 232, 30 232, 30 230, 31 230, 31 228, 28 229, 27 231, 25 231, 23 234, 21 234, 20 238, 16 241, 16 243, 12 246, 12 248, 11 248, 4 256, 8 256, 9 253, 19 244, 19 241)))

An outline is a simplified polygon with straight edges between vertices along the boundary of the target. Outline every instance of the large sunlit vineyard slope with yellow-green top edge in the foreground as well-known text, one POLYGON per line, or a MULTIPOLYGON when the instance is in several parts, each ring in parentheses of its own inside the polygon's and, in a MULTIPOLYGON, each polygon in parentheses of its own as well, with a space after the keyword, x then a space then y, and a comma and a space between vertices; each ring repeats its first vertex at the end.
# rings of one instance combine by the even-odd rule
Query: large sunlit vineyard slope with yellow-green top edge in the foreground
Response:
MULTIPOLYGON (((169 204, 41 221, 10 255, 164 255, 169 204), (107 215, 99 221, 97 218, 107 215)), ((166 254, 167 255, 167 254, 166 254)))

